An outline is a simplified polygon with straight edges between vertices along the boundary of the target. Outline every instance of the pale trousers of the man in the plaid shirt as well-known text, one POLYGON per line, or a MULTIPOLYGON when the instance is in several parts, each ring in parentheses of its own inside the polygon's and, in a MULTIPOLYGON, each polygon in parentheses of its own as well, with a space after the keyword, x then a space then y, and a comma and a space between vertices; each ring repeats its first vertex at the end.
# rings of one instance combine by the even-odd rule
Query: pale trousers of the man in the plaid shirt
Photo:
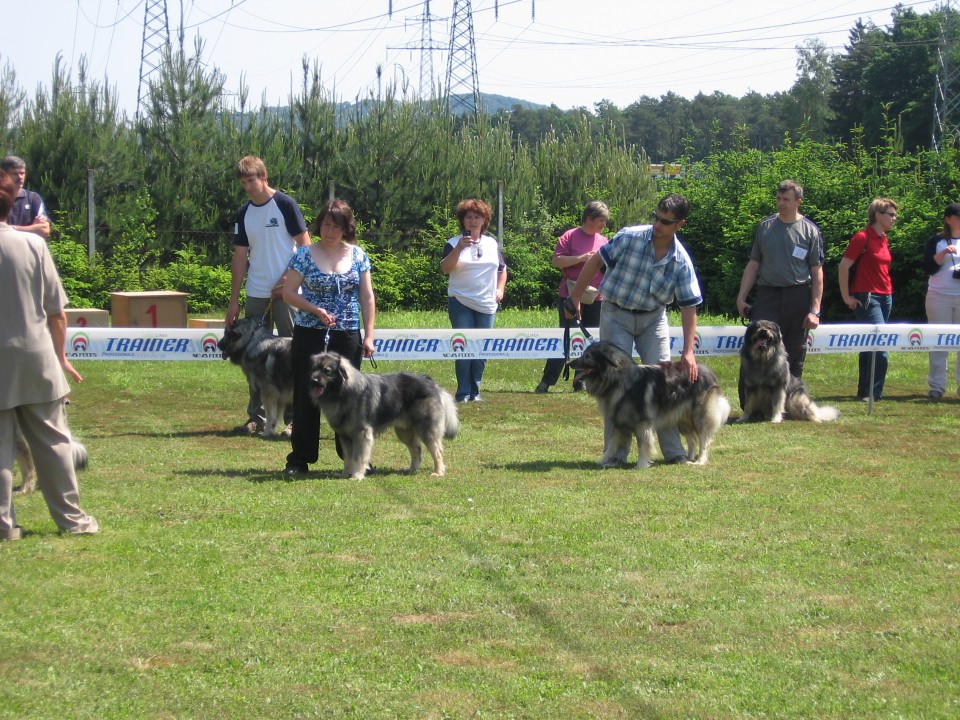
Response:
MULTIPOLYGON (((600 339, 608 340, 630 355, 636 348, 644 365, 655 365, 670 359, 670 325, 664 308, 648 313, 631 313, 606 302, 600 310, 600 339)), ((604 450, 610 444, 612 435, 613 428, 604 423, 604 450)), ((687 451, 680 441, 680 430, 676 425, 660 430, 657 440, 664 460, 686 456, 687 451)), ((628 445, 628 454, 629 450, 628 445)), ((620 459, 626 460, 626 457, 620 459)))

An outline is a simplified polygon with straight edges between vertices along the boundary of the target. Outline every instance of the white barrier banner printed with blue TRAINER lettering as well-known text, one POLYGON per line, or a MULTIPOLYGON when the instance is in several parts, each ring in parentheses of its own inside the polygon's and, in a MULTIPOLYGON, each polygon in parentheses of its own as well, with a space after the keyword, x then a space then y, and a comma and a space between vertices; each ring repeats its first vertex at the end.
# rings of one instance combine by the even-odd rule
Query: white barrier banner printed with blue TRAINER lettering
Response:
MULTIPOLYGON (((738 355, 744 328, 720 325, 697 328, 699 356, 738 355)), ((599 338, 596 328, 589 328, 599 338)), ((67 328, 71 360, 221 360, 217 341, 222 331, 188 328, 67 328)), ((570 333, 570 355, 583 352, 588 340, 577 328, 570 333)), ((377 360, 536 360, 563 357, 561 328, 493 330, 390 330, 377 328, 377 360)), ((683 335, 670 329, 670 349, 680 354, 683 335)), ((864 350, 929 352, 960 350, 960 325, 922 323, 821 325, 811 330, 807 352, 850 353, 864 350)))

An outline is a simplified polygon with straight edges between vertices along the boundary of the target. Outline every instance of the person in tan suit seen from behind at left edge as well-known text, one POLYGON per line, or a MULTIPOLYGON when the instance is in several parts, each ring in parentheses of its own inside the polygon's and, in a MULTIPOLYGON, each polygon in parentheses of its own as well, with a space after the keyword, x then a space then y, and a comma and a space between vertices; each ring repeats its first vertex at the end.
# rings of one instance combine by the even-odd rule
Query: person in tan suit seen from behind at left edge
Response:
POLYGON ((65 352, 67 296, 38 236, 6 223, 17 189, 0 172, 0 540, 18 540, 13 510, 15 431, 19 424, 37 466, 37 484, 60 532, 88 535, 96 519, 80 509, 63 401, 80 382, 65 352))

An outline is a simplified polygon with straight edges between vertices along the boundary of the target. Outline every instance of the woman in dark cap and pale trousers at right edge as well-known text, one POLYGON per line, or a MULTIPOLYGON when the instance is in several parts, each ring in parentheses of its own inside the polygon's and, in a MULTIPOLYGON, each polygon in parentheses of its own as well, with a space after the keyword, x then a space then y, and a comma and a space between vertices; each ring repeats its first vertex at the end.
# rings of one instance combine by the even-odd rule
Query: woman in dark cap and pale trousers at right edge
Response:
MULTIPOLYGON (((932 324, 960 323, 960 203, 950 203, 943 214, 943 232, 927 241, 923 253, 923 267, 930 276, 927 281, 927 322, 932 324)), ((930 374, 927 384, 931 400, 939 400, 947 390, 946 350, 930 353, 930 374)), ((960 353, 954 370, 957 393, 960 394, 960 353)))

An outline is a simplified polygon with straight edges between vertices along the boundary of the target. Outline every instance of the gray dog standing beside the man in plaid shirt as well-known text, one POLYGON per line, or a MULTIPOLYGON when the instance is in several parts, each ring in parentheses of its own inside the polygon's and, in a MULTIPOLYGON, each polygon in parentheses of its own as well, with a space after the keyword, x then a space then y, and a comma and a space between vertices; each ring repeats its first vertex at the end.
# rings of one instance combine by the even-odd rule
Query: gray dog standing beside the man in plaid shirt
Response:
POLYGON ((610 342, 588 346, 570 363, 574 381, 586 383, 587 392, 600 405, 600 412, 613 430, 610 445, 599 464, 606 465, 637 438, 638 468, 650 464, 654 431, 676 425, 687 441, 687 455, 698 465, 707 462, 713 436, 730 415, 713 372, 698 364, 699 374, 690 382, 679 363, 637 365, 633 358, 610 342))

